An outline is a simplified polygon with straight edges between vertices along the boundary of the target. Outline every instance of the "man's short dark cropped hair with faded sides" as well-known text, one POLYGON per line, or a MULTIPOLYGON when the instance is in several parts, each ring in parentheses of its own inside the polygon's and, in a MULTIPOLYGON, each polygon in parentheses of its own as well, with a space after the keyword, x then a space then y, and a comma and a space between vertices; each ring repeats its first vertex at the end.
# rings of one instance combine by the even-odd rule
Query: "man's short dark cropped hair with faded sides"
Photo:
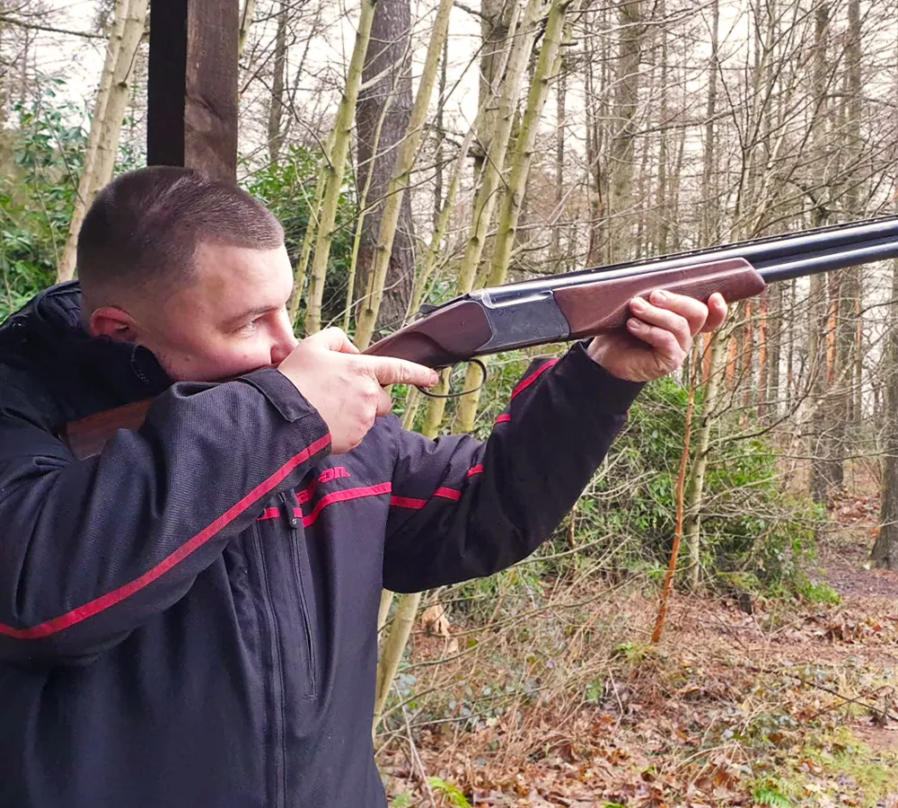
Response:
POLYGON ((168 294, 189 281, 203 242, 274 250, 284 229, 258 199, 201 171, 160 165, 122 174, 94 199, 78 233, 84 297, 104 305, 168 294))

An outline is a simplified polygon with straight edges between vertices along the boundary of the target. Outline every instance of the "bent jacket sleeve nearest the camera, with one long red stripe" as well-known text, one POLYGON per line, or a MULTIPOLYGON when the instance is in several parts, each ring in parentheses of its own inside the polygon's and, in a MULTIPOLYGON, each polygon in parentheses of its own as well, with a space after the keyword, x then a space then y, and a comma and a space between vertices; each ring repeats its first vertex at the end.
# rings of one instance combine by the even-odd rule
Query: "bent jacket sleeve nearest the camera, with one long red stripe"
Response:
MULTIPOLYGON (((270 496, 330 452, 276 370, 179 383, 138 431, 76 461, 4 391, 0 660, 80 663, 188 592, 270 496)), ((19 397, 22 399, 22 397, 19 397)))

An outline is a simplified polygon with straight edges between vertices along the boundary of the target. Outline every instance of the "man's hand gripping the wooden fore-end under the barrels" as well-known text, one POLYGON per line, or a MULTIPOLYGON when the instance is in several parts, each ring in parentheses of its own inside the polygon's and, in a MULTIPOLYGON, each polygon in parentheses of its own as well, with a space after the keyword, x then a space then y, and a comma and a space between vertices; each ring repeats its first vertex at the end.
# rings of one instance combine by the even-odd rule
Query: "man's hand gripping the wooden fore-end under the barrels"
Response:
POLYGON ((619 379, 652 382, 672 373, 685 361, 692 338, 700 331, 715 331, 726 320, 726 301, 715 292, 708 304, 673 292, 655 291, 648 300, 634 297, 633 317, 626 333, 593 338, 588 353, 619 379))

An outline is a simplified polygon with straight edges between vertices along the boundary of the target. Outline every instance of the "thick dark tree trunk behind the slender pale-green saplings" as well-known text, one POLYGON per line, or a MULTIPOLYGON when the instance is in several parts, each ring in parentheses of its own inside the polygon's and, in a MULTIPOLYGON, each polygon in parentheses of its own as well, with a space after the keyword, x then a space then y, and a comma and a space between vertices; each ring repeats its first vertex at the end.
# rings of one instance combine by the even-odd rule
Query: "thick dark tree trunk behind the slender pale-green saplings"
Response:
MULTIPOLYGON (((357 299, 364 296, 369 285, 377 249, 377 233, 383 216, 383 200, 393 174, 397 147, 409 127, 412 106, 410 37, 409 0, 377 0, 371 26, 371 44, 362 71, 362 90, 358 93, 356 107, 357 177, 360 186, 370 182, 366 198, 368 210, 359 247, 355 284, 357 299), (383 108, 388 104, 389 109, 384 113, 383 108), (374 131, 382 115, 383 126, 375 147, 374 131)), ((414 272, 411 197, 405 194, 375 329, 401 324, 409 306, 414 272)))

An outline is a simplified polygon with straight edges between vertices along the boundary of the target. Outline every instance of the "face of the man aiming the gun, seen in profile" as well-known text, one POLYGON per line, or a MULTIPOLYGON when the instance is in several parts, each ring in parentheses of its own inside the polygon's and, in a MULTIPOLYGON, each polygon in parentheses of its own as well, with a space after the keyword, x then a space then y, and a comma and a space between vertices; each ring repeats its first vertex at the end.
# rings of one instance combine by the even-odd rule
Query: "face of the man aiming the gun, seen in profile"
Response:
POLYGON ((279 364, 296 346, 286 248, 201 244, 189 285, 134 314, 136 342, 175 382, 211 382, 279 364))

